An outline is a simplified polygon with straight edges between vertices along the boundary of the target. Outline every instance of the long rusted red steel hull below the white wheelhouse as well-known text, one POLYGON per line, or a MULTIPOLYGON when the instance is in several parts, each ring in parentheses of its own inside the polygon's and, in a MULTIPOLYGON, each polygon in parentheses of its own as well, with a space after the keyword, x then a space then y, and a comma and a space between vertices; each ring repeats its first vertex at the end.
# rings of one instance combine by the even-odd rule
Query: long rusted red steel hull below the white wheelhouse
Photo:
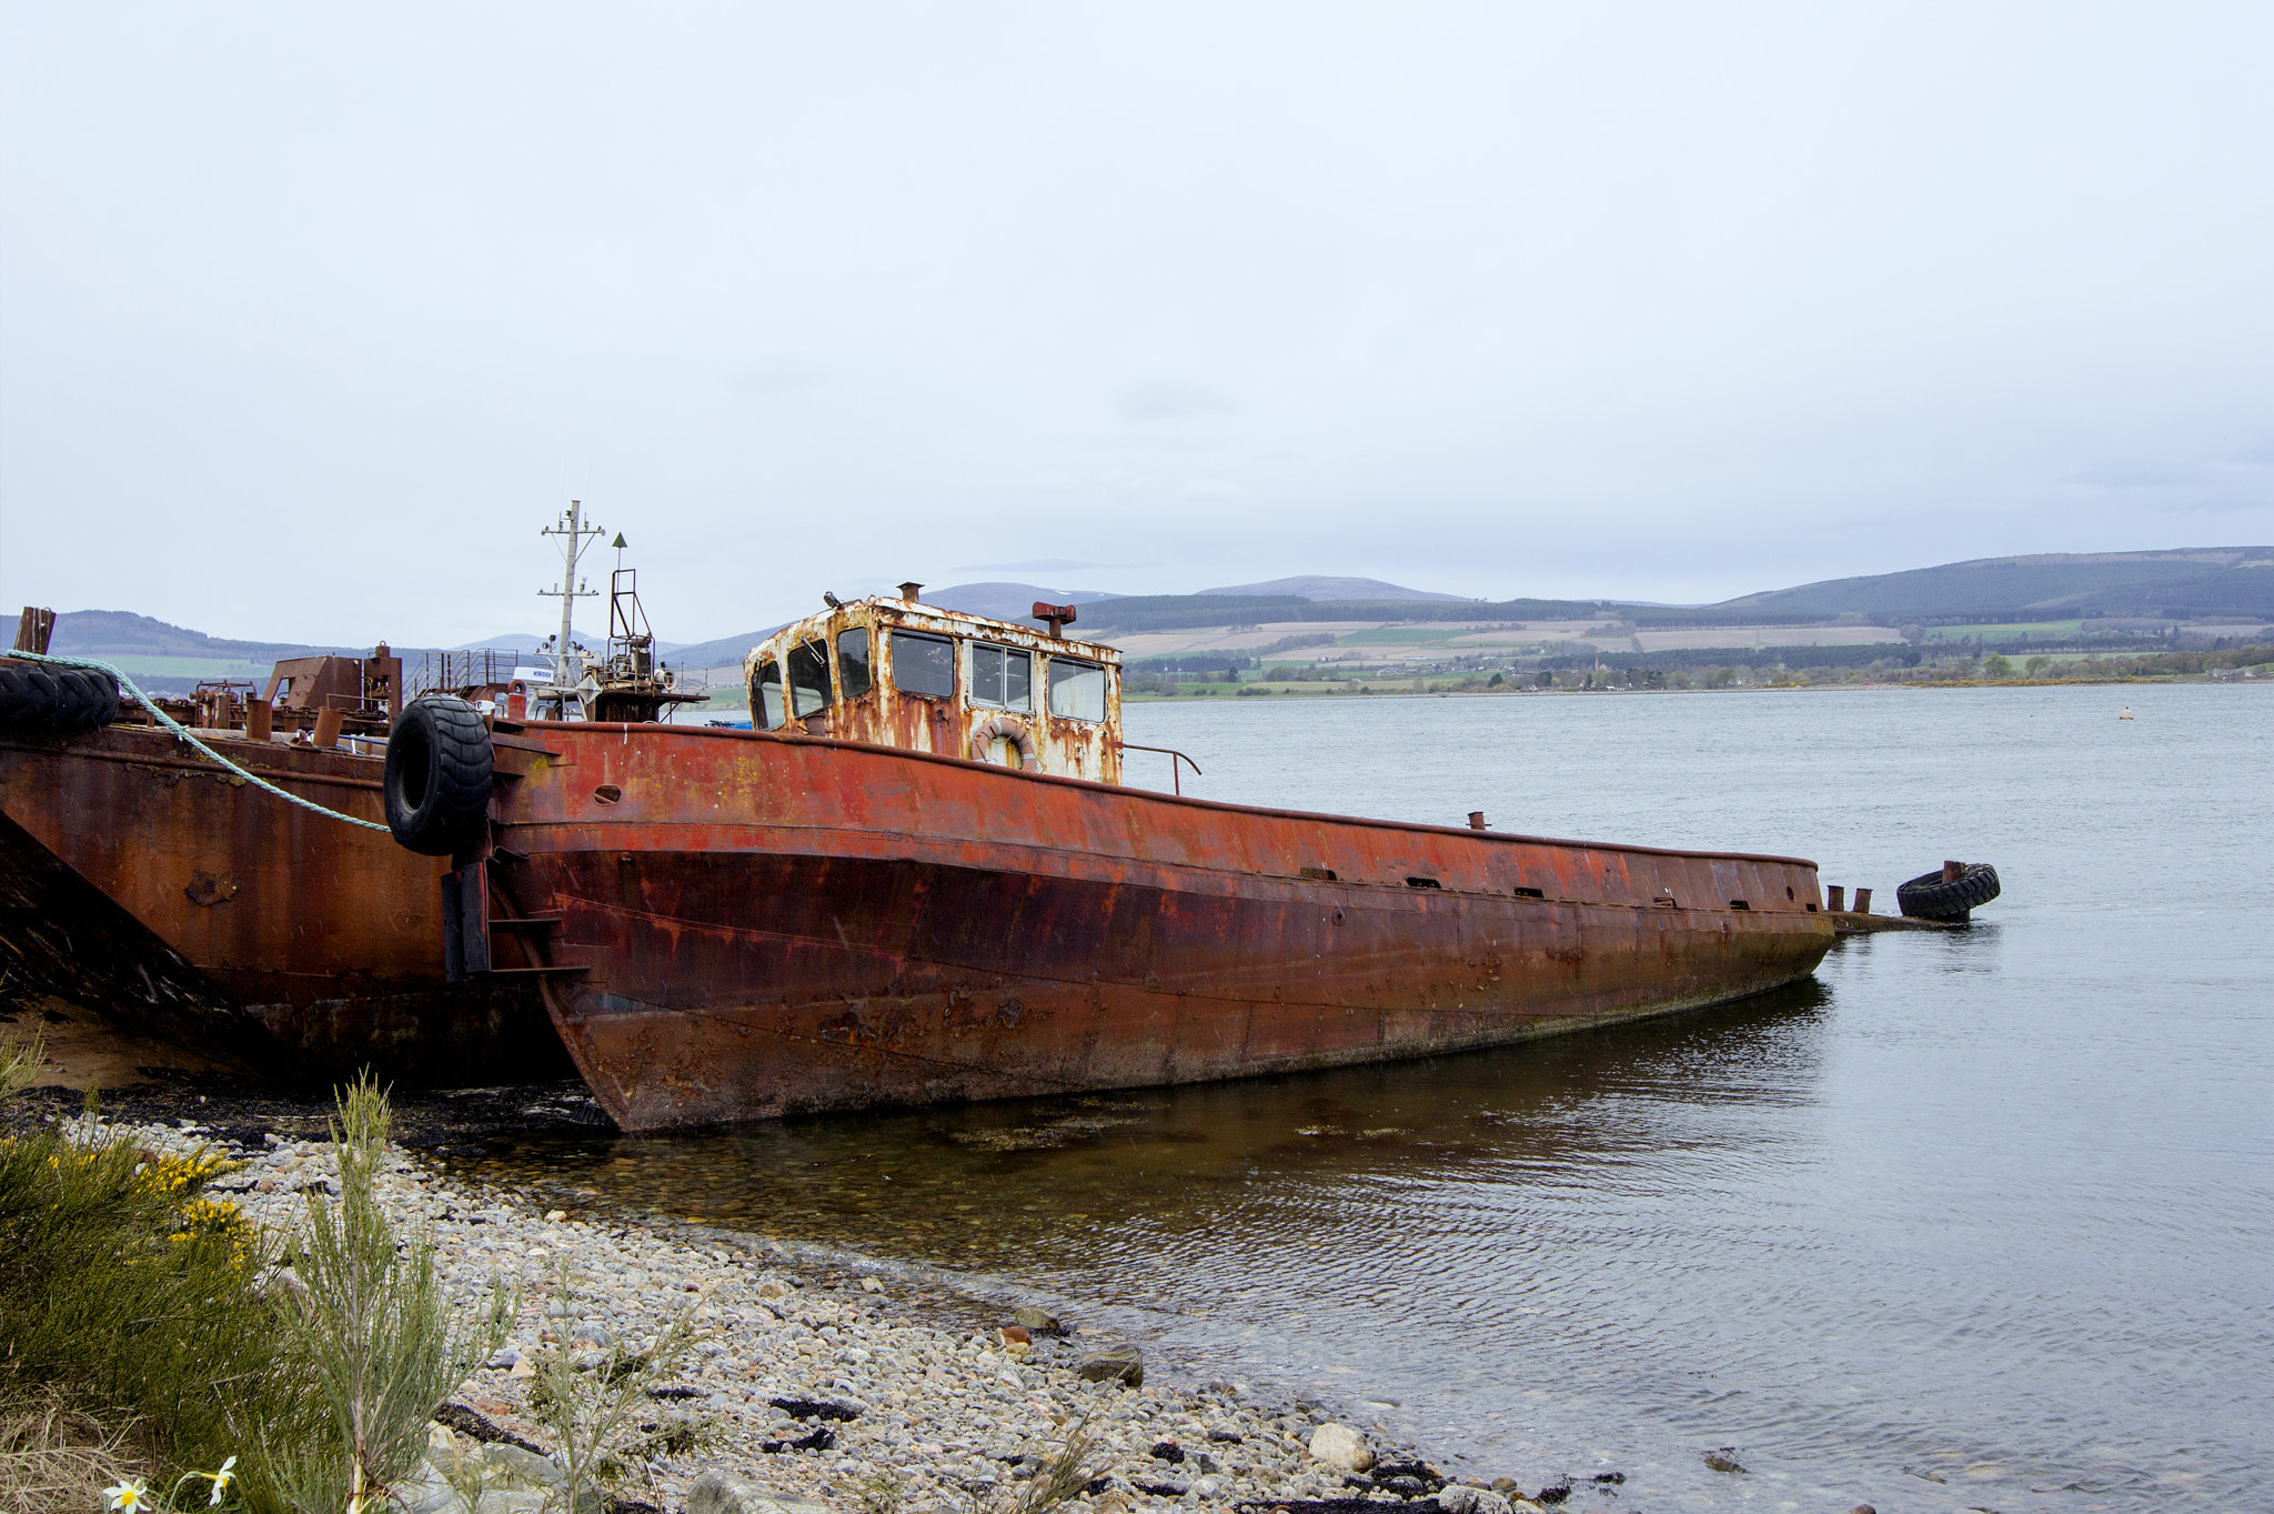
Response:
POLYGON ((798 737, 525 737, 553 757, 500 787, 491 877, 559 916, 548 1005, 625 1130, 1499 1046, 1774 989, 1833 941, 1787 857, 798 737))

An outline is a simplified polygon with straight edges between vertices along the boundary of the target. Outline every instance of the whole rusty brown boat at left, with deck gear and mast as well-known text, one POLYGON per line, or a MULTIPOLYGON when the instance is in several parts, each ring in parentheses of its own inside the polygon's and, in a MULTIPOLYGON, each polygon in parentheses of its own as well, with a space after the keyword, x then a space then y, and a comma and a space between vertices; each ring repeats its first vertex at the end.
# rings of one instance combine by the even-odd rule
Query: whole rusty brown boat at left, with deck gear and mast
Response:
MULTIPOLYGON (((582 552, 596 532, 571 505, 548 534, 582 552)), ((27 609, 0 693, 50 682, 43 698, 0 698, 0 975, 277 1082, 573 1075, 534 973, 446 971, 450 866, 389 837, 382 777, 418 689, 500 718, 653 721, 700 700, 655 662, 630 568, 609 607, 598 655, 571 643, 564 614, 566 655, 543 666, 443 652, 407 677, 387 646, 296 657, 266 687, 152 700, 177 730, 111 675, 50 662, 55 616, 27 609), (57 675, 93 687, 100 709, 70 709, 57 675)))

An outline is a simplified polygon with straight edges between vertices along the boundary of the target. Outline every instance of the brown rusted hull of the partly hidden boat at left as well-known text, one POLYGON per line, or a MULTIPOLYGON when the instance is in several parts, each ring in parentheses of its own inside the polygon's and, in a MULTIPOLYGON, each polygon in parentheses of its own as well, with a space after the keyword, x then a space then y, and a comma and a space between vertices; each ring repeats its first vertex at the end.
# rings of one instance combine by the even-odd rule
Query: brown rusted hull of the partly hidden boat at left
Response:
MULTIPOLYGON (((211 737, 380 821, 380 759, 211 737)), ((0 962, 150 1034, 289 1082, 566 1075, 525 982, 443 982, 439 877, 380 830, 252 789, 171 734, 0 737, 0 962)))

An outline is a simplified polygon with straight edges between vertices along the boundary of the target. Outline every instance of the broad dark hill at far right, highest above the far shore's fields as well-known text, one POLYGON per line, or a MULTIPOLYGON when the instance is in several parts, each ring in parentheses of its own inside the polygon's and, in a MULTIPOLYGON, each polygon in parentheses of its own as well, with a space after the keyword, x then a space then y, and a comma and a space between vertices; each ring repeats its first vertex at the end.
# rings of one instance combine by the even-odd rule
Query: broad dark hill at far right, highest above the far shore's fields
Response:
POLYGON ((1978 557, 1940 568, 1771 589, 1712 609, 1819 616, 1856 612, 1881 623, 2267 616, 2274 614, 2274 548, 1978 557))

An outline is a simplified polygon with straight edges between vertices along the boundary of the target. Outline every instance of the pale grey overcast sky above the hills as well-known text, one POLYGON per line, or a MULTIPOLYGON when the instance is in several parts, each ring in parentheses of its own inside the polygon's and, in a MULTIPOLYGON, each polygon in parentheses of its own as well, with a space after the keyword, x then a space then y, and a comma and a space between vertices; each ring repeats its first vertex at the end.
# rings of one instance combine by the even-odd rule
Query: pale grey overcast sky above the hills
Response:
POLYGON ((9 612, 2274 541, 2263 2, 0 16, 9 612))

